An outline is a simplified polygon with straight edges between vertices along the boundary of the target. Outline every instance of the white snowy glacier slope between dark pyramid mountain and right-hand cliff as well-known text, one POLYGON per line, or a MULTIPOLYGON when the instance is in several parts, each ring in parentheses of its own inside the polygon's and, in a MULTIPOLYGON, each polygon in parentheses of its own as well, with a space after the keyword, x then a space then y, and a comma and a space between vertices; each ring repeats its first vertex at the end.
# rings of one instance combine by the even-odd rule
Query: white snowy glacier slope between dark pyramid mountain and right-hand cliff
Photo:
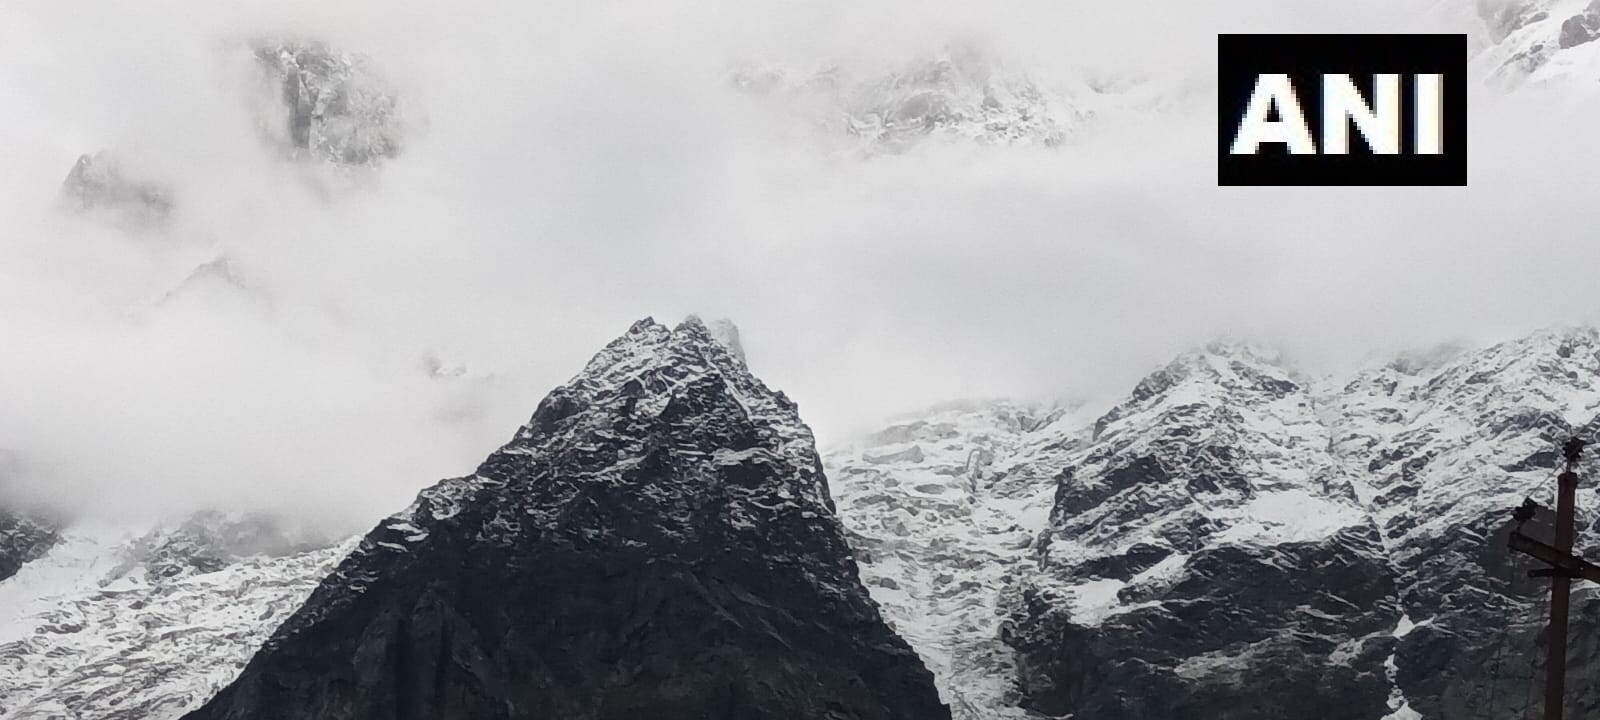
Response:
POLYGON ((960 720, 1016 715, 1000 589, 1050 514, 1046 483, 1002 483, 1072 424, 1066 408, 957 403, 824 456, 872 598, 960 720))

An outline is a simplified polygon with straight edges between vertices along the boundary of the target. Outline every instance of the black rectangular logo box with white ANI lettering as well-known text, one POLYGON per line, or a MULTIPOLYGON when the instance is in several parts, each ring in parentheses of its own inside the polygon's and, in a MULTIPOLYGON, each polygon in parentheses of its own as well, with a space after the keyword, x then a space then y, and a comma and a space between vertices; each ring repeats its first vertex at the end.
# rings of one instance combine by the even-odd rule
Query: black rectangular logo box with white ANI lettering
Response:
MULTIPOLYGON (((1274 110, 1272 120, 1278 120, 1274 110)), ((1466 186, 1467 184, 1467 37, 1466 35, 1218 35, 1218 184, 1219 186, 1466 186), (1261 74, 1286 74, 1301 101, 1318 154, 1291 155, 1264 144, 1256 155, 1230 152, 1261 74), (1402 152, 1374 155, 1350 128, 1346 155, 1322 150, 1322 75, 1349 74, 1371 102, 1374 74, 1400 74, 1402 152), (1413 75, 1443 75, 1443 154, 1413 155, 1416 117, 1413 75)))

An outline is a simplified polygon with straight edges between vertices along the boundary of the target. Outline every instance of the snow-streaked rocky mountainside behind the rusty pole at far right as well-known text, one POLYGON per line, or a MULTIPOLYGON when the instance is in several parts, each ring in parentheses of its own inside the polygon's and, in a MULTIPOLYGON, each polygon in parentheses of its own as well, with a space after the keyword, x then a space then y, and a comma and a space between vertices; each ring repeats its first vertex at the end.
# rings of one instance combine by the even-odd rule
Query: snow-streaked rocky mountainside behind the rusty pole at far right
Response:
MULTIPOLYGON (((1342 392, 1341 451, 1366 470, 1370 509, 1410 627, 1395 678, 1422 717, 1512 717, 1542 682, 1547 582, 1509 554, 1510 507, 1554 506, 1558 445, 1594 437, 1600 336, 1544 331, 1432 365, 1392 363, 1342 392)), ((1579 491, 1579 552, 1595 550, 1594 462, 1579 491)), ((1538 518, 1531 534, 1549 528, 1538 518)), ((1568 717, 1600 712, 1600 605, 1573 597, 1568 717)), ((1538 698, 1538 691, 1533 693, 1538 698)), ((1536 702, 1536 701, 1534 701, 1536 702)))

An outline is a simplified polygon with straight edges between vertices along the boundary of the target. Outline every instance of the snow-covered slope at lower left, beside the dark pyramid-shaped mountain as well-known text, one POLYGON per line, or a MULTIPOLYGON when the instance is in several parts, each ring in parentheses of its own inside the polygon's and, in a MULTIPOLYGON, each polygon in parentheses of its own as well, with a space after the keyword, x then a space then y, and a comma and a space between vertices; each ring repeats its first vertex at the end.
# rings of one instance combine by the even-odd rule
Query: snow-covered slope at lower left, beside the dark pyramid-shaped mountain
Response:
POLYGON ((349 549, 218 514, 69 526, 0 582, 0 718, 179 717, 232 680, 349 549))

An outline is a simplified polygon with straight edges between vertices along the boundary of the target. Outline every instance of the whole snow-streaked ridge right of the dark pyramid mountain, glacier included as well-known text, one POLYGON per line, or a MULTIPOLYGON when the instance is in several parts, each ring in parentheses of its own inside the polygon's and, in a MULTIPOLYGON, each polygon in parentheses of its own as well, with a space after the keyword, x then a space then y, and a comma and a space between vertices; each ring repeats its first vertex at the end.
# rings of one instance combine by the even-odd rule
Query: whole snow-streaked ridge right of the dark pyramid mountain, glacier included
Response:
MULTIPOLYGON (((1544 586, 1522 578, 1504 533, 1526 493, 1549 502, 1558 442, 1594 430, 1597 354, 1579 328, 1307 378, 1214 344, 1098 419, 995 443, 992 406, 941 410, 891 427, 910 446, 858 445, 829 466, 898 627, 1002 629, 1010 659, 979 638, 942 661, 949 643, 907 632, 947 696, 976 701, 968 717, 1510 717, 1538 680, 1544 586), (982 430, 912 430, 936 426, 982 430), (990 480, 955 482, 952 458, 989 448, 990 480), (920 483, 941 477, 934 509, 997 507, 1024 488, 1035 510, 1005 530, 965 509, 926 520, 934 488, 920 483), (1005 547, 1018 530, 1037 533, 1030 549, 966 578, 914 565, 952 538, 1005 547), (1010 686, 990 674, 1005 667, 1010 686)), ((1592 533, 1592 504, 1579 507, 1592 533)), ((1581 640, 1600 630, 1592 595, 1574 595, 1574 677, 1600 656, 1581 640)), ((1574 683, 1571 712, 1595 707, 1590 685, 1574 683)))

